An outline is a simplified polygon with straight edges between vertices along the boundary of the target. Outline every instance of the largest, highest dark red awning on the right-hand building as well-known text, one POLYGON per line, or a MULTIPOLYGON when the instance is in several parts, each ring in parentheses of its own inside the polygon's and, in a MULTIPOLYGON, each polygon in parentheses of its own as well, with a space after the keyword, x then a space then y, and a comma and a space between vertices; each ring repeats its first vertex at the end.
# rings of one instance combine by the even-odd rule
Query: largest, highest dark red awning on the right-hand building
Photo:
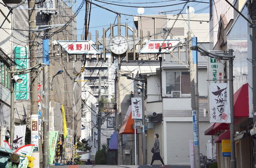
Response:
POLYGON ((234 118, 249 117, 248 83, 234 93, 234 118))

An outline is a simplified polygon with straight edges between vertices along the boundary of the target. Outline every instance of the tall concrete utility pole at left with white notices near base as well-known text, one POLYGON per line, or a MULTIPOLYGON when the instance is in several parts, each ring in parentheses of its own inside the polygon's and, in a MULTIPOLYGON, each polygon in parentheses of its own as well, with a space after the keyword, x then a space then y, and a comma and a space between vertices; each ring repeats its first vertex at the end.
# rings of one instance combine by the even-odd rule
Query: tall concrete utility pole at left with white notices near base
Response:
MULTIPOLYGON (((36 65, 37 40, 35 34, 36 28, 36 13, 35 13, 35 0, 29 0, 29 51, 30 51, 30 66, 36 65)), ((39 167, 39 148, 38 148, 38 98, 37 98, 37 85, 38 85, 38 70, 33 69, 30 74, 30 91, 31 91, 31 144, 35 144, 35 149, 32 154, 36 160, 33 162, 34 167, 39 167), (35 121, 32 121, 33 120, 35 121), (36 137, 37 136, 37 137, 36 137), (35 140, 36 138, 36 140, 35 140)))

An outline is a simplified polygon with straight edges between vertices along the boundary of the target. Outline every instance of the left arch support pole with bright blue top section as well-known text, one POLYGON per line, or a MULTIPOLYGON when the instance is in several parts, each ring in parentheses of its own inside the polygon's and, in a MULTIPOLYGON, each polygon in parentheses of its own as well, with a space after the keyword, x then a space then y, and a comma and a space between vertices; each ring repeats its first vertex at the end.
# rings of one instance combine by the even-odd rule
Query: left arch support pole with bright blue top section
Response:
POLYGON ((44 138, 42 167, 48 167, 49 158, 49 39, 42 41, 43 62, 47 65, 43 68, 43 86, 44 86, 44 138))

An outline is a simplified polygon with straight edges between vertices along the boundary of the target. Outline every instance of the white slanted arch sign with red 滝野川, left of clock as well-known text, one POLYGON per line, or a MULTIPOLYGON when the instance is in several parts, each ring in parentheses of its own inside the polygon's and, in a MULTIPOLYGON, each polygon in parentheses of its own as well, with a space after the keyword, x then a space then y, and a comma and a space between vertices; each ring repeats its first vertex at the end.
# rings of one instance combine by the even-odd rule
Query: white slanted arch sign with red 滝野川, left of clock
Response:
POLYGON ((99 54, 89 41, 57 41, 69 54, 99 54))

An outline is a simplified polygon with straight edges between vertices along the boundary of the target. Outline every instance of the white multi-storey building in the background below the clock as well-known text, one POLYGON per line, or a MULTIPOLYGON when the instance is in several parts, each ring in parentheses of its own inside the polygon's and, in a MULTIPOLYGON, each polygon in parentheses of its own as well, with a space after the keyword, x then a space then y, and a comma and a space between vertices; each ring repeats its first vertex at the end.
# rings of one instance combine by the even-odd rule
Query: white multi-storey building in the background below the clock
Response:
MULTIPOLYGON (((109 57, 108 57, 109 58, 109 57)), ((90 139, 91 152, 82 159, 95 159, 98 150, 98 94, 99 76, 101 76, 101 98, 111 102, 114 98, 115 65, 107 59, 97 61, 95 58, 86 61, 86 69, 82 73, 82 133, 81 139, 90 139)), ((102 110, 102 109, 101 109, 102 110)), ((101 113, 101 145, 109 145, 114 132, 114 110, 106 109, 101 113)))

